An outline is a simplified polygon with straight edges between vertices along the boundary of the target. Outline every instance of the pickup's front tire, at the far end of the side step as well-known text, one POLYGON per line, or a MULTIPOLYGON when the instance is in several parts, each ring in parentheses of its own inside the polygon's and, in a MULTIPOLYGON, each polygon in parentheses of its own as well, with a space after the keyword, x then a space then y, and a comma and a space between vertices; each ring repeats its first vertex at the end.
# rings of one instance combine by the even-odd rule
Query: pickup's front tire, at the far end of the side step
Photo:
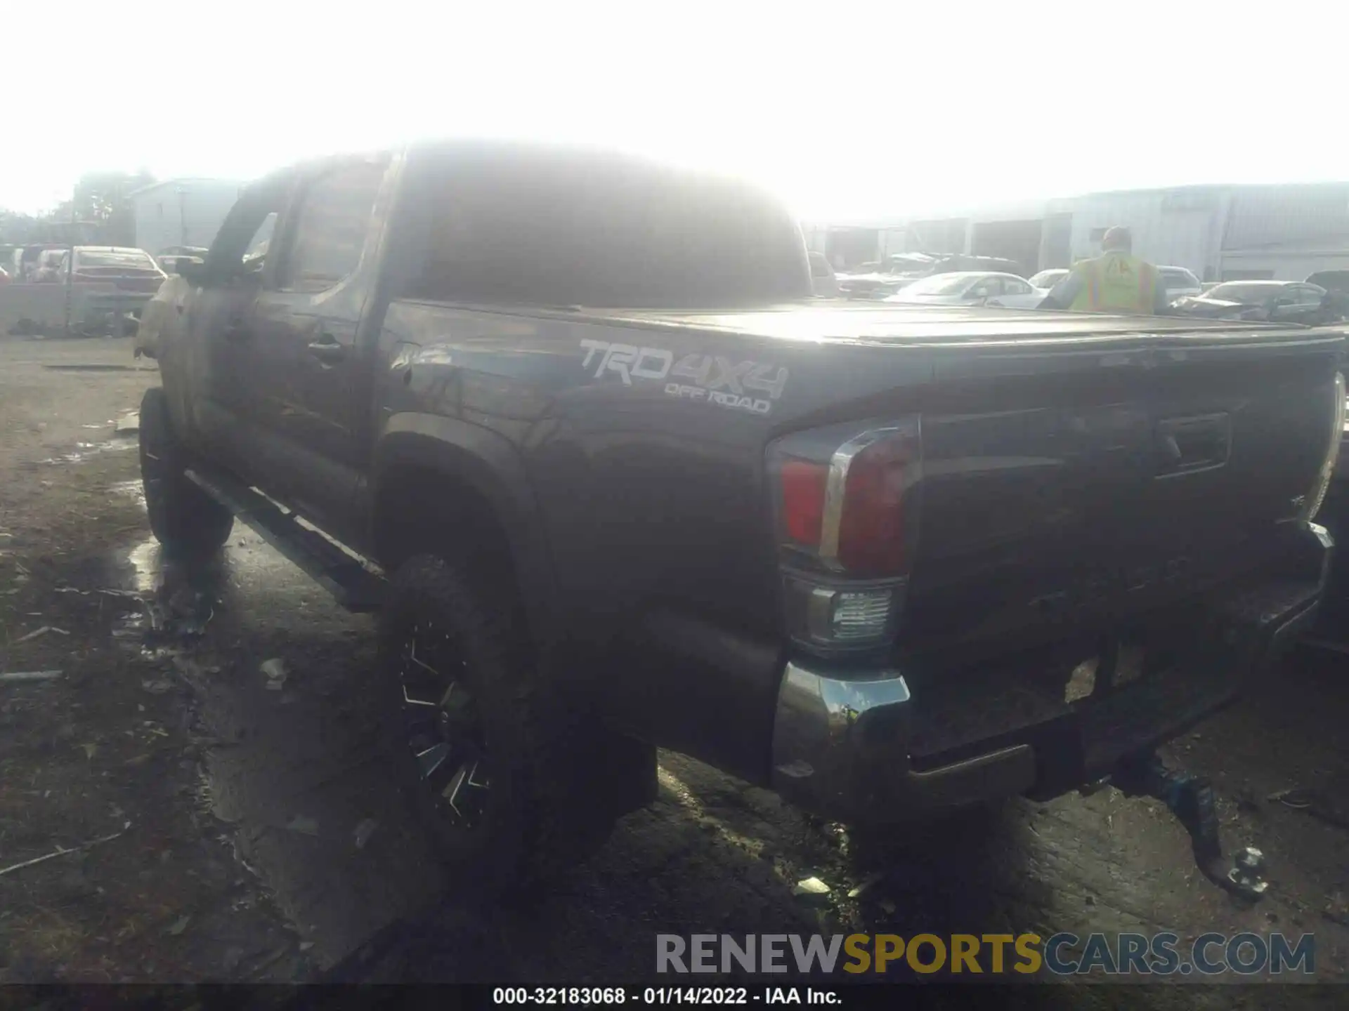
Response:
POLYGON ((140 483, 150 530, 165 550, 183 558, 209 558, 229 539, 235 518, 183 476, 186 454, 174 437, 169 402, 159 387, 140 400, 140 483))

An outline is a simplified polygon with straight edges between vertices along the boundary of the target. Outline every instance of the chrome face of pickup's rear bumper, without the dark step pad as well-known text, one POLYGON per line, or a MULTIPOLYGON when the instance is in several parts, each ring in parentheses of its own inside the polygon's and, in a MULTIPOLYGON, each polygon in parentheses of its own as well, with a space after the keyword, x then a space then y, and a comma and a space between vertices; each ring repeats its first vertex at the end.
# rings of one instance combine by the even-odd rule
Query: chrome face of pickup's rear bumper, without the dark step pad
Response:
MULTIPOLYGON (((1246 678, 1271 669, 1315 617, 1331 547, 1323 527, 1302 524, 1290 557, 1295 578, 1279 573, 1269 586, 1217 603, 1207 631, 1197 631, 1193 665, 1203 677, 1194 683, 1144 681, 1094 708, 1064 702, 1052 720, 1010 740, 1000 735, 1000 747, 950 763, 915 767, 909 744, 920 709, 900 671, 789 662, 773 724, 773 789, 826 817, 884 822, 1000 797, 1054 795, 1106 775, 1121 758, 1184 732, 1232 701, 1246 678)), ((966 698, 997 705, 977 690, 966 698)))

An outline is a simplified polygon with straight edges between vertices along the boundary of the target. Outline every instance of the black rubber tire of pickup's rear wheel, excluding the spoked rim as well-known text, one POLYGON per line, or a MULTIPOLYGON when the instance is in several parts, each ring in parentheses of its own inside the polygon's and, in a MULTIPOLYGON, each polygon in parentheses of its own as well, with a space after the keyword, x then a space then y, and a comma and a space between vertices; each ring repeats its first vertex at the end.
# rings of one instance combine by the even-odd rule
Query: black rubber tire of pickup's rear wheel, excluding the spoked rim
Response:
MULTIPOLYGON (((603 797, 604 735, 538 677, 514 590, 483 566, 430 554, 403 562, 379 617, 380 735, 409 809, 447 865, 459 898, 518 894, 587 859, 616 811, 603 797), (403 721, 401 665, 414 630, 432 623, 463 658, 457 678, 475 700, 490 789, 482 824, 447 824, 422 782, 403 721)), ((654 778, 654 751, 650 756, 654 778)))

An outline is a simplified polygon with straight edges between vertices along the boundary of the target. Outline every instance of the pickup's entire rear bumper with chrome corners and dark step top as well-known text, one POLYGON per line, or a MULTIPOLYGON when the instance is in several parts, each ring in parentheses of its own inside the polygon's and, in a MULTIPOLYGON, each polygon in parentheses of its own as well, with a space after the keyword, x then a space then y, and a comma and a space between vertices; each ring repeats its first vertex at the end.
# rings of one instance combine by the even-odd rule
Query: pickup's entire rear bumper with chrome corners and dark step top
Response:
MULTIPOLYGON (((1166 665, 1086 698, 1009 663, 925 683, 901 670, 786 665, 773 727, 774 789, 844 821, 904 821, 978 801, 1054 797, 1108 775, 1230 702, 1315 619, 1333 549, 1290 527, 1280 572, 1187 617, 1166 665)), ((1110 665, 1103 665, 1109 674, 1110 665)))

